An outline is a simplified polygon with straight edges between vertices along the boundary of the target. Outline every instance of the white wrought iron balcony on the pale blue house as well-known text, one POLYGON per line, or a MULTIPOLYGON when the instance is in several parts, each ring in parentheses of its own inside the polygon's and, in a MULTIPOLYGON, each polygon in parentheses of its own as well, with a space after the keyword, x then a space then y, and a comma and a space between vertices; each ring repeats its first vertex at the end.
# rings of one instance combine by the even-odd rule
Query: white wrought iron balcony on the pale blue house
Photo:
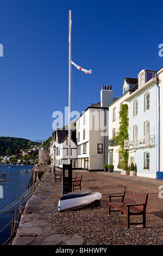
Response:
POLYGON ((153 147, 153 146, 155 146, 154 135, 146 135, 143 137, 137 137, 132 140, 129 139, 128 141, 124 141, 125 149, 144 148, 144 147, 153 147))

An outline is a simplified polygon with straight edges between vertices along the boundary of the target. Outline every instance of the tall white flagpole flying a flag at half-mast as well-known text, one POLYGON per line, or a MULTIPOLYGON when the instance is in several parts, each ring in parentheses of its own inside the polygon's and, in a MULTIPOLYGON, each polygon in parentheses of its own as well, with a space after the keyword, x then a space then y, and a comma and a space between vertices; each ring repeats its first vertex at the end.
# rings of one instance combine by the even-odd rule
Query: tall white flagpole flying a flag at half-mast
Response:
POLYGON ((69 96, 68 96, 68 164, 70 164, 71 147, 71 10, 69 10, 69 96))

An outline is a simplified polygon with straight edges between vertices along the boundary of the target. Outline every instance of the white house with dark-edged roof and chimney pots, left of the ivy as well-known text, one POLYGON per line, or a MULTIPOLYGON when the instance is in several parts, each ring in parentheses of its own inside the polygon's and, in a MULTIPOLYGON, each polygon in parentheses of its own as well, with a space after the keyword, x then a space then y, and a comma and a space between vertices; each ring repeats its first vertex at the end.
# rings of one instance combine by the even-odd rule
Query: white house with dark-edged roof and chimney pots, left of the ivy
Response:
POLYGON ((111 87, 102 86, 101 101, 85 109, 76 122, 78 168, 103 170, 108 163, 108 106, 113 101, 111 87))

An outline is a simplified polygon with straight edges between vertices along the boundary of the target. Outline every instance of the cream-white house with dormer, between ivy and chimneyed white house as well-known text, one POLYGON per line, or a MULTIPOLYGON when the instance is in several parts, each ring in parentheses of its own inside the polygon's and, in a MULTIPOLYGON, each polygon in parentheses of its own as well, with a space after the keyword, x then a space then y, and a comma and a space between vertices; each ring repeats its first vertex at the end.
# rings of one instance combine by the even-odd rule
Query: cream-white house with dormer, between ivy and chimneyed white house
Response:
POLYGON ((136 78, 124 78, 123 81, 123 94, 118 97, 109 106, 109 156, 108 163, 114 165, 114 172, 121 173, 121 169, 118 169, 118 163, 121 160, 121 155, 118 153, 119 146, 115 142, 114 137, 118 132, 120 127, 119 112, 121 110, 121 105, 126 102, 128 96, 137 89, 138 79, 136 78))

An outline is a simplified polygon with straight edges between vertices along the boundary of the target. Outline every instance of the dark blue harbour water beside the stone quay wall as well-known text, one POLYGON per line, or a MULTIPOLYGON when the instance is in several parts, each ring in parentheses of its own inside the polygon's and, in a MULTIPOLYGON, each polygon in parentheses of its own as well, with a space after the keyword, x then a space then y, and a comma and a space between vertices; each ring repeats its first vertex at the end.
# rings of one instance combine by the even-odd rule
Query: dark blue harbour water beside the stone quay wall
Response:
MULTIPOLYGON (((1 209, 4 206, 9 205, 18 197, 20 197, 24 192, 28 190, 28 183, 32 176, 32 165, 24 164, 14 164, 14 168, 11 167, 11 164, 1 164, 0 173, 5 172, 6 176, 4 177, 6 181, 0 182, 0 231, 11 221, 12 213, 9 218, 5 218, 6 214, 1 214, 1 209), (23 170, 29 170, 28 172, 21 172, 23 170), (30 171, 31 170, 31 171, 30 171)), ((0 177, 0 179, 4 179, 0 177)), ((11 225, 7 229, 4 229, 0 232, 0 245, 2 245, 10 236, 11 225)))

